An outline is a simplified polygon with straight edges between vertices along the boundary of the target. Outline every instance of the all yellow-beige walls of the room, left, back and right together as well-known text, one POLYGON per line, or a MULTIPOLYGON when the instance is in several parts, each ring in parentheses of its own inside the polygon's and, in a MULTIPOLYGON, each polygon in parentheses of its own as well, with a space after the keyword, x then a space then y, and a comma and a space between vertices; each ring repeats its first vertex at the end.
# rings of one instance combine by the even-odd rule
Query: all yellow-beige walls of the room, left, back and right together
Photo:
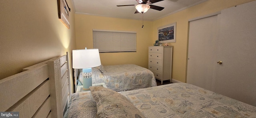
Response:
POLYGON ((58 19, 56 0, 0 0, 0 79, 66 51, 71 60, 72 49, 93 48, 92 29, 136 31, 137 52, 100 53, 102 64, 134 63, 147 68, 148 46, 157 39, 157 28, 176 22, 176 43, 170 43, 174 46, 172 78, 186 82, 188 20, 250 1, 208 0, 165 18, 145 21, 141 28, 140 20, 74 15, 72 2, 67 0, 71 8, 68 30, 58 19))

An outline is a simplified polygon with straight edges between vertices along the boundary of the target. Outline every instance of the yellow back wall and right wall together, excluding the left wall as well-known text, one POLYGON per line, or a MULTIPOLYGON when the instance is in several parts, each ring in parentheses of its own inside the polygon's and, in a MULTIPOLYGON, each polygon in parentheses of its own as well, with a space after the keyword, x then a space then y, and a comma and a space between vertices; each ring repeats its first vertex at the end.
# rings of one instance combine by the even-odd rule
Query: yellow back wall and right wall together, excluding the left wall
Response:
POLYGON ((169 43, 174 46, 172 78, 186 82, 188 20, 250 1, 253 0, 207 0, 159 20, 144 22, 144 28, 140 20, 75 14, 77 49, 93 48, 92 29, 136 31, 137 52, 100 53, 101 61, 103 65, 134 63, 148 68, 148 46, 158 39, 158 27, 176 22, 176 43, 169 43))

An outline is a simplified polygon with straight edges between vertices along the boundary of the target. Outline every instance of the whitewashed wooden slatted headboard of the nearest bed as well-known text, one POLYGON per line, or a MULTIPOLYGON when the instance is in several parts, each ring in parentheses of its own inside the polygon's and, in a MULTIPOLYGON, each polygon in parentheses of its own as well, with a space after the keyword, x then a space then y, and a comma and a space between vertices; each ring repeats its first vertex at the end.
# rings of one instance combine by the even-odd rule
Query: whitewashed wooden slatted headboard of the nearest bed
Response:
POLYGON ((62 118, 71 98, 68 52, 0 80, 0 111, 20 118, 62 118))

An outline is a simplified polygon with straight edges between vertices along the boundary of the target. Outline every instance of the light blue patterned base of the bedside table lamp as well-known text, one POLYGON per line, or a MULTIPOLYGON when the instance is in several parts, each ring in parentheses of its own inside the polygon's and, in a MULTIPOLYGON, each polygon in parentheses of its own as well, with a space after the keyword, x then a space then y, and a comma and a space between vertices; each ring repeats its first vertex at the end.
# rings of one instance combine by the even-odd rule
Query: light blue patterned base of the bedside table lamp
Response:
POLYGON ((83 69, 83 90, 90 90, 92 86, 92 68, 83 69))

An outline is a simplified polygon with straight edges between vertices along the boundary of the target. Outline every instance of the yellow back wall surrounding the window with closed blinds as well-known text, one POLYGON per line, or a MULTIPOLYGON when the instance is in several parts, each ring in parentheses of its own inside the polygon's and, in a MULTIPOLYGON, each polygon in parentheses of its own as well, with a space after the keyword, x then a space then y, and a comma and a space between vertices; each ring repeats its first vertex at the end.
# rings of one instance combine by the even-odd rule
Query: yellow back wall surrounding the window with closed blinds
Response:
POLYGON ((153 45, 152 22, 75 14, 77 49, 93 48, 92 29, 136 31, 137 52, 100 53, 103 65, 136 64, 148 68, 148 46, 153 45))

